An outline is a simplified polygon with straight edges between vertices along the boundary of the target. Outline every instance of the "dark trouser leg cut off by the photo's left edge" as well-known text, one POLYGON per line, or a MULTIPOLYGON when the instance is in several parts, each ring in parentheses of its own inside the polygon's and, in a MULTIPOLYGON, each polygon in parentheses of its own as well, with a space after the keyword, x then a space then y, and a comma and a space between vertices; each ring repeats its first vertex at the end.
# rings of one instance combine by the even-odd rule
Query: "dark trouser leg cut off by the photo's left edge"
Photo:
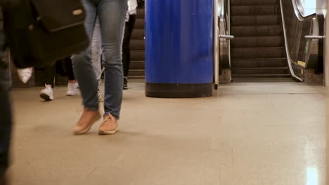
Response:
POLYGON ((9 165, 9 147, 11 142, 11 102, 9 90, 11 81, 9 69, 0 61, 0 179, 9 165))

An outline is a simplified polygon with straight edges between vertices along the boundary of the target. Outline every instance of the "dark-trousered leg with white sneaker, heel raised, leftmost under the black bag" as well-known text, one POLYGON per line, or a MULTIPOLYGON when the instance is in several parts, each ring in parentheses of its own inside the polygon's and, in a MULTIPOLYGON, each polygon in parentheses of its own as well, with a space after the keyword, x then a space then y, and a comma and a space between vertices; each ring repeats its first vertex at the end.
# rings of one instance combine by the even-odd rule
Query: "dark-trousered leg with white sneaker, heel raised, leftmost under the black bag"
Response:
POLYGON ((45 88, 40 91, 40 97, 46 101, 53 100, 53 87, 55 86, 56 64, 44 67, 45 88))

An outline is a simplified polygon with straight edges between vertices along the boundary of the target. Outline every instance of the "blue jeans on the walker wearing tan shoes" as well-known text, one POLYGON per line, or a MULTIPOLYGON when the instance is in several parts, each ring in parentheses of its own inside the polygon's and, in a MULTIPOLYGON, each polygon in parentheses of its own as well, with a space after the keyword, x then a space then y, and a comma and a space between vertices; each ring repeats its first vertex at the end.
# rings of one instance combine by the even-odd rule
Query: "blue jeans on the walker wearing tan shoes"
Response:
MULTIPOLYGON (((105 115, 120 118, 123 89, 122 39, 127 0, 83 0, 86 9, 86 32, 92 38, 96 15, 101 26, 103 66, 105 67, 105 115)), ((83 104, 91 111, 98 110, 98 82, 91 64, 91 46, 73 57, 73 68, 79 82, 83 104)))

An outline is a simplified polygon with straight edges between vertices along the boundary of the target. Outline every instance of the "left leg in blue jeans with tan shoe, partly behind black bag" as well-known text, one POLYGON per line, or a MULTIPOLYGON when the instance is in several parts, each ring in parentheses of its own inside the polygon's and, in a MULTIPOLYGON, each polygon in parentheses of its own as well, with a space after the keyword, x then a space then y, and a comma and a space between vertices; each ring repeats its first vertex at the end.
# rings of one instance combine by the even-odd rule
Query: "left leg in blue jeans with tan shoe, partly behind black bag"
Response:
MULTIPOLYGON (((90 0, 83 0, 82 2, 86 9, 86 33, 89 38, 91 38, 96 21, 96 3, 90 0)), ((100 118, 97 97, 98 82, 96 81, 95 71, 91 64, 90 46, 85 51, 78 55, 74 55, 72 58, 75 78, 77 78, 79 82, 79 89, 83 99, 82 103, 84 104, 84 112, 74 129, 74 133, 78 135, 88 132, 93 123, 100 118)))

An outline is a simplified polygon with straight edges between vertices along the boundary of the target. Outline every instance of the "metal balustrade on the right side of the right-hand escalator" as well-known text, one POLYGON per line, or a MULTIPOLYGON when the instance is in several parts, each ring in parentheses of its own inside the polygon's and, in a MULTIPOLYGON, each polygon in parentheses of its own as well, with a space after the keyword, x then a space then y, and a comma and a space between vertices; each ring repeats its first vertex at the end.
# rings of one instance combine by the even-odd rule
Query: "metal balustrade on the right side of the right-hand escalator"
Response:
POLYGON ((304 15, 300 0, 280 0, 280 4, 290 73, 297 81, 308 81, 307 71, 323 73, 323 41, 313 38, 323 36, 324 16, 304 15))

